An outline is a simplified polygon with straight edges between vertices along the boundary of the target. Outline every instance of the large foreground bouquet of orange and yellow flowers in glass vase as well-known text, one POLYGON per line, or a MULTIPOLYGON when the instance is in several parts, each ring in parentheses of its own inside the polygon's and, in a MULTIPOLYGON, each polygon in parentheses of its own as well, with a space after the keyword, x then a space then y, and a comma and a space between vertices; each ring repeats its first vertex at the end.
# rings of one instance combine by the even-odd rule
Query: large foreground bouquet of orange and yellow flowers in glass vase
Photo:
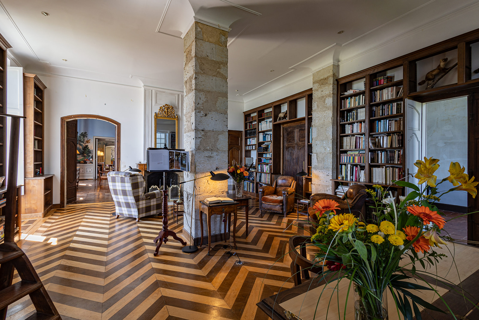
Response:
POLYGON ((404 319, 412 320, 414 314, 421 320, 418 306, 442 311, 411 293, 410 290, 435 291, 422 279, 414 263, 419 262, 424 268, 445 257, 433 249, 446 244, 446 236, 441 235, 446 222, 434 203, 445 193, 455 190, 468 191, 475 198, 478 182, 474 182, 474 177, 469 179, 465 168, 454 162, 449 167, 449 177, 436 184, 437 177, 433 173, 439 167, 438 162, 438 159, 424 157, 424 161, 417 160, 414 164, 418 167, 414 177, 419 179, 420 185, 426 183, 430 188, 421 190, 412 183, 394 181, 412 190, 399 197, 399 203, 382 186, 374 185, 376 190, 367 190, 375 202, 371 207, 373 220, 370 223, 358 220, 351 213, 336 214, 339 208, 334 200, 320 200, 309 209, 318 218, 317 233, 311 241, 319 248, 317 258, 324 261, 323 275, 336 273, 339 279, 349 279, 348 294, 354 282, 355 319, 387 319, 387 310, 382 305, 386 289, 394 298, 398 315, 401 312, 404 319), (437 186, 446 180, 454 188, 436 196, 437 186), (431 192, 425 195, 427 189, 431 192), (405 258, 410 261, 399 266, 399 261, 405 258), (412 275, 427 286, 407 282, 412 275))

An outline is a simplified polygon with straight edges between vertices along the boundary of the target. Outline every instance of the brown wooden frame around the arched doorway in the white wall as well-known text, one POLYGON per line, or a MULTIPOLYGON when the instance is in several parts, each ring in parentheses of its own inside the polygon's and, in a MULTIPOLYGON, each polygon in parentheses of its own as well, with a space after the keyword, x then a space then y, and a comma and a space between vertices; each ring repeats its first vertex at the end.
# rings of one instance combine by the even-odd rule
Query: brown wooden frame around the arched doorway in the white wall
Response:
POLYGON ((99 116, 99 115, 71 115, 65 116, 60 119, 60 207, 64 208, 66 205, 66 192, 67 188, 67 148, 66 148, 66 134, 67 134, 67 121, 75 119, 99 119, 108 121, 115 125, 115 170, 120 169, 121 163, 121 124, 114 119, 99 116))

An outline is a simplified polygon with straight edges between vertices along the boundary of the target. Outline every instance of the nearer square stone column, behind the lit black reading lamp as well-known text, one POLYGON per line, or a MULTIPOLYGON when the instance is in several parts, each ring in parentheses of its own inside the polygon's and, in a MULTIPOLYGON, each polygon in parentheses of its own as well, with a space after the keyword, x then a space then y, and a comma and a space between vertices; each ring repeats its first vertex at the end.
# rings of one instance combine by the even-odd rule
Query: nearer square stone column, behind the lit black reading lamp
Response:
MULTIPOLYGON (((184 179, 209 175, 209 171, 227 173, 228 166, 228 32, 194 22, 183 39, 184 45, 184 149, 190 151, 191 171, 184 179)), ((212 181, 209 178, 184 184, 183 234, 201 237, 199 201, 213 196, 225 196, 227 181, 212 181)), ((221 234, 223 218, 214 215, 211 219, 212 235, 221 234)), ((207 241, 206 220, 204 236, 207 241)), ((198 242, 196 242, 198 244, 198 242)))

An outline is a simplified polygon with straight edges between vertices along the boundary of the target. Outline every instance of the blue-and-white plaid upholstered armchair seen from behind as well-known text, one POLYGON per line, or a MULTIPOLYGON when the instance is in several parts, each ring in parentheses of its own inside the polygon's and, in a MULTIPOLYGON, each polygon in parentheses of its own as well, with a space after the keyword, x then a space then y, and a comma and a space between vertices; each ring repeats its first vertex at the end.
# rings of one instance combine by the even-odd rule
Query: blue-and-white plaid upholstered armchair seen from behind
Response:
POLYGON ((145 178, 140 173, 111 171, 107 178, 116 218, 123 215, 139 221, 141 217, 161 213, 162 191, 145 193, 145 178))

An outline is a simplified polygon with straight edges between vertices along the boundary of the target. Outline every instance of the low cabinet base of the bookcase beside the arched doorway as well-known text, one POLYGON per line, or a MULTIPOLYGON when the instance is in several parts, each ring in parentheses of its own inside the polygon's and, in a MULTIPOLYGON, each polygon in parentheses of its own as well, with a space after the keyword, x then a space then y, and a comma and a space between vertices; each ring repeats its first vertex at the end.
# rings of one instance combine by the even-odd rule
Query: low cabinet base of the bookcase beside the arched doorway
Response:
POLYGON ((43 218, 53 207, 53 176, 25 178, 23 219, 43 218))

